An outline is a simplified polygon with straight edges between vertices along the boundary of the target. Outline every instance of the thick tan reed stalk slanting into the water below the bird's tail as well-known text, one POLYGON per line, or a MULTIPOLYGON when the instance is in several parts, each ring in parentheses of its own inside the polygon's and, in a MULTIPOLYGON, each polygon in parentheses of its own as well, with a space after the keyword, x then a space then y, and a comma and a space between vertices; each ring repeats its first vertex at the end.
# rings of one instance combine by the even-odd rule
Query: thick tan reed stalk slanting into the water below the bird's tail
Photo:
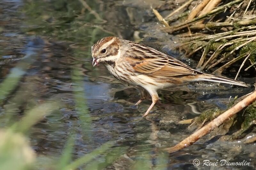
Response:
POLYGON ((169 153, 177 152, 183 148, 186 148, 192 144, 194 144, 197 140, 202 138, 204 135, 208 134, 210 131, 212 131, 214 128, 217 128, 220 126, 223 122, 227 121, 230 117, 244 109, 245 107, 249 106, 256 100, 256 91, 252 92, 249 96, 238 102, 236 105, 219 115, 217 118, 213 119, 211 122, 206 124, 201 129, 194 132, 192 135, 181 141, 179 144, 170 147, 165 148, 169 153))

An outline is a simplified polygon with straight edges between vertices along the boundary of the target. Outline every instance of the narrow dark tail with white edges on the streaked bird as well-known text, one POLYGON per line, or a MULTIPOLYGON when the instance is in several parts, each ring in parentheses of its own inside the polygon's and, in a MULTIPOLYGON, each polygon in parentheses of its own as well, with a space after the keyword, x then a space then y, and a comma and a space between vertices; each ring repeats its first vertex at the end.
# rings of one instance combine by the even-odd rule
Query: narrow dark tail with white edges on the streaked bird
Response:
POLYGON ((244 86, 244 87, 249 87, 244 82, 233 80, 233 79, 226 78, 223 76, 214 76, 211 74, 204 74, 201 77, 199 77, 198 80, 213 81, 213 82, 227 83, 227 84, 231 84, 231 85, 240 85, 240 86, 244 86))

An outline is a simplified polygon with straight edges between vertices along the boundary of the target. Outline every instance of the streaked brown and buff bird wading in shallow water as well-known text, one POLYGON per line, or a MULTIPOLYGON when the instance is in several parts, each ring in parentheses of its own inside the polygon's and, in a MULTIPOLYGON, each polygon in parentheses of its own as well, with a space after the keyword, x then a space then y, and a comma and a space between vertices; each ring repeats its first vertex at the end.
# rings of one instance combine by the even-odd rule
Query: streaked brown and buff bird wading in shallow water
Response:
POLYGON ((196 81, 248 87, 241 81, 197 71, 154 48, 115 36, 104 37, 92 46, 92 66, 99 64, 103 64, 121 82, 139 90, 140 100, 135 106, 145 100, 148 94, 151 96, 152 104, 143 117, 159 100, 159 89, 196 81))

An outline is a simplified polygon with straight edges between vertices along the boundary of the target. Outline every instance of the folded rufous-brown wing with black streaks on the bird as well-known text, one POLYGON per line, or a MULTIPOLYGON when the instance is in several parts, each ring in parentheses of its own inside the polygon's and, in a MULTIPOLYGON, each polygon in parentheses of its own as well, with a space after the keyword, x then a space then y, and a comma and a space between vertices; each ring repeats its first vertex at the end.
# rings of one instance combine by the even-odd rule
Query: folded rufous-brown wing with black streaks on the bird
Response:
POLYGON ((137 43, 132 44, 130 54, 127 62, 141 74, 167 77, 202 74, 169 55, 137 43))

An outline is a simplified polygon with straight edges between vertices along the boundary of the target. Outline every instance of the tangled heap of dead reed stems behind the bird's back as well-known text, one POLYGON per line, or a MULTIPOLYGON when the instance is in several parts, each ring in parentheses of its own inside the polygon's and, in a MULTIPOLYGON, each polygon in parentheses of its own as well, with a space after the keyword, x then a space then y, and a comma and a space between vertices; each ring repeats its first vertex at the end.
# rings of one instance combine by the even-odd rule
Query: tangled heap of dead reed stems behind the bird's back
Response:
POLYGON ((153 11, 164 25, 162 31, 178 34, 184 42, 176 48, 185 50, 187 57, 196 52, 202 54, 198 70, 214 68, 213 73, 220 75, 243 58, 249 61, 245 70, 255 68, 255 6, 252 0, 188 0, 165 18, 157 10, 153 11))

